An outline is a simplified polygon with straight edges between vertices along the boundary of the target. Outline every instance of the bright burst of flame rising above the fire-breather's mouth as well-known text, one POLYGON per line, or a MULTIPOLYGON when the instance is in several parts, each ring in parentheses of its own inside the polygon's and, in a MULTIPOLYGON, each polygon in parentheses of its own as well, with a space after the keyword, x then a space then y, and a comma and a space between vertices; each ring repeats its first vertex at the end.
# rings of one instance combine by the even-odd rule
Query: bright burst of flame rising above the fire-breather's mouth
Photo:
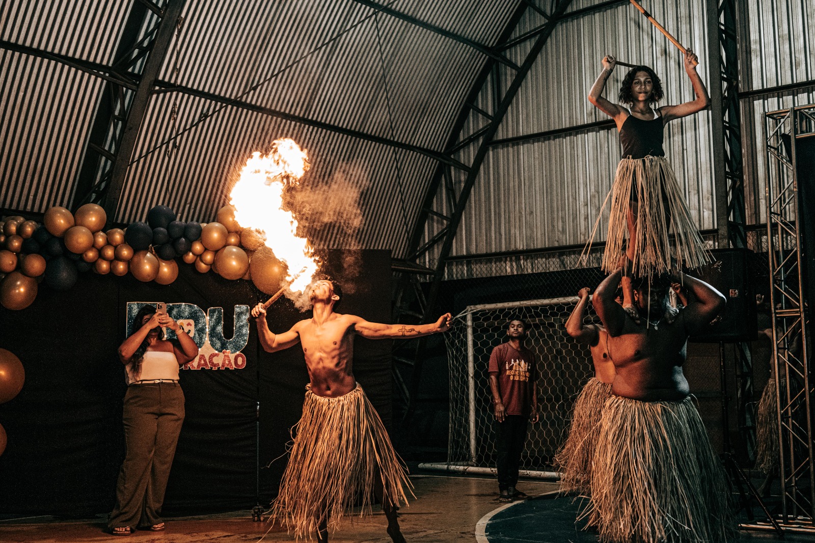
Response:
POLYGON ((283 209, 283 192, 308 171, 306 151, 292 139, 277 139, 271 152, 253 152, 230 194, 235 220, 265 236, 264 243, 289 268, 286 282, 293 292, 311 284, 319 267, 311 243, 297 236, 297 219, 283 209))

